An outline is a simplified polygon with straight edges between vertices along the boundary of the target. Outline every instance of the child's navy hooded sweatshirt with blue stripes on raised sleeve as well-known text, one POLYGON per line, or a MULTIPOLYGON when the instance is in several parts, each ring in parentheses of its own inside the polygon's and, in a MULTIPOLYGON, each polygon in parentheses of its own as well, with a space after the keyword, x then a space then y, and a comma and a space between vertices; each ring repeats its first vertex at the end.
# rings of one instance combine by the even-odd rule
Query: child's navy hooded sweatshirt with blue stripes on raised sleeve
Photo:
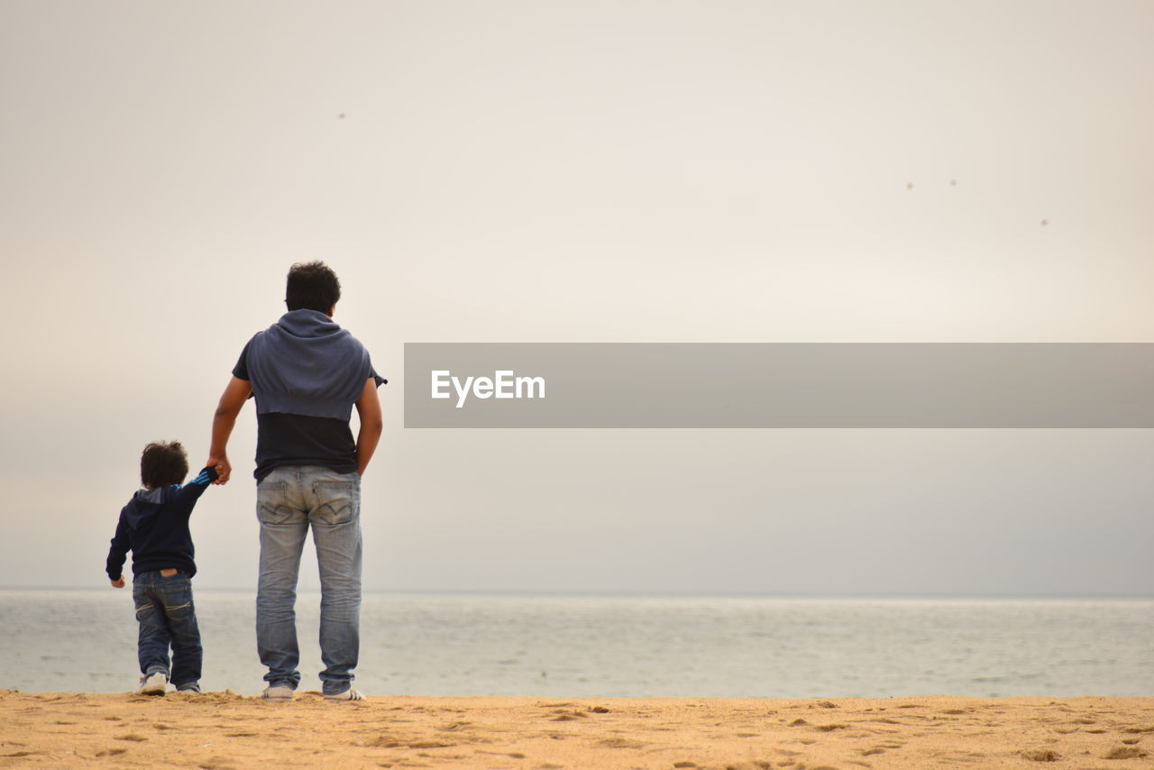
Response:
POLYGON ((108 548, 108 578, 121 576, 125 555, 129 551, 133 552, 133 575, 173 567, 188 573, 189 577, 195 575, 195 550, 188 531, 188 517, 197 499, 216 479, 216 469, 205 468, 183 486, 173 484, 141 489, 133 495, 120 510, 117 533, 108 548))

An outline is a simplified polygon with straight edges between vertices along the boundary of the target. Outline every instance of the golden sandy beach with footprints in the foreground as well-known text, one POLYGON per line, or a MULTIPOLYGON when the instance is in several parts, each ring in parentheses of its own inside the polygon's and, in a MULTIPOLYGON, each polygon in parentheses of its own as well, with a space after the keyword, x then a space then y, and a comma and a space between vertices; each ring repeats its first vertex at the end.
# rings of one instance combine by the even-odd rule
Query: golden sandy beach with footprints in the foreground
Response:
POLYGON ((1154 768, 1154 697, 580 698, 0 690, 3 768, 1154 768))

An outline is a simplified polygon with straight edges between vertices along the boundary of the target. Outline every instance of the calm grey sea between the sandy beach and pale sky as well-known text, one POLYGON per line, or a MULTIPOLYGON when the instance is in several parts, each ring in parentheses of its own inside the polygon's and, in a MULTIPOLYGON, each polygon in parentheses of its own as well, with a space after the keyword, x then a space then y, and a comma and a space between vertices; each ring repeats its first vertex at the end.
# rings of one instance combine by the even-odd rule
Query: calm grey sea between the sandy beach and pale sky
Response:
MULTIPOLYGON (((260 693, 255 597, 197 591, 205 689, 260 693)), ((320 595, 298 597, 319 689, 320 595)), ((0 590, 0 688, 127 691, 128 591, 0 590)), ((545 697, 1154 696, 1154 600, 367 593, 357 687, 545 697)))

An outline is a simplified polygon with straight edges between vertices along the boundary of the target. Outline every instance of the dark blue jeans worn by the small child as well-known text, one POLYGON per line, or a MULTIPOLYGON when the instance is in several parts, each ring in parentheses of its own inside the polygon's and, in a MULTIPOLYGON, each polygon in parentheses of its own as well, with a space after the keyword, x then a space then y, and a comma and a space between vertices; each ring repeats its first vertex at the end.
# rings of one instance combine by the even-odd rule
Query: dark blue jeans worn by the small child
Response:
POLYGON ((136 655, 145 676, 163 672, 179 689, 201 678, 201 629, 193 606, 193 582, 180 570, 165 577, 159 571, 133 577, 133 603, 140 636, 136 655), (172 667, 168 667, 168 646, 172 667))

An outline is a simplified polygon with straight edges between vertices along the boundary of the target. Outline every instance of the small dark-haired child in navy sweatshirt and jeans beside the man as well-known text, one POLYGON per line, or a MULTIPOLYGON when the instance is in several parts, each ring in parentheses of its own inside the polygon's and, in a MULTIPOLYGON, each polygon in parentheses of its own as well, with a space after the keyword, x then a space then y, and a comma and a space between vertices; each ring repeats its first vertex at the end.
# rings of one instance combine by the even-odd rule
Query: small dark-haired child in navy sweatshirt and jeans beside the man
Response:
POLYGON ((193 537, 188 517, 208 485, 217 478, 205 468, 181 486, 188 457, 179 441, 150 443, 141 455, 138 491, 120 511, 108 550, 113 588, 123 588, 125 554, 133 552, 133 601, 140 637, 140 693, 164 695, 171 679, 180 691, 201 691, 201 631, 193 607, 193 537), (170 678, 168 645, 172 645, 170 678))

